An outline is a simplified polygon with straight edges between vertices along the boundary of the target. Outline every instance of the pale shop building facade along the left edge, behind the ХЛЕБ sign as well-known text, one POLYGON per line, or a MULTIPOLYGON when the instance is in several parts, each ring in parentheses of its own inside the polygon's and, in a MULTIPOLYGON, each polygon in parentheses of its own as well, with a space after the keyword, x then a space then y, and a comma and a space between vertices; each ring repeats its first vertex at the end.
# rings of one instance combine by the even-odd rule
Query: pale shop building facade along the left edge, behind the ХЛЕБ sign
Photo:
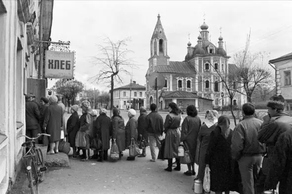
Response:
MULTIPOLYGON (((52 15, 53 1, 42 1, 42 10, 52 15)), ((22 165, 25 138, 19 136, 26 132, 24 94, 32 92, 28 80, 39 75, 35 51, 42 1, 0 0, 0 194, 15 182, 22 165)), ((49 36, 50 27, 46 30, 43 34, 49 36)))

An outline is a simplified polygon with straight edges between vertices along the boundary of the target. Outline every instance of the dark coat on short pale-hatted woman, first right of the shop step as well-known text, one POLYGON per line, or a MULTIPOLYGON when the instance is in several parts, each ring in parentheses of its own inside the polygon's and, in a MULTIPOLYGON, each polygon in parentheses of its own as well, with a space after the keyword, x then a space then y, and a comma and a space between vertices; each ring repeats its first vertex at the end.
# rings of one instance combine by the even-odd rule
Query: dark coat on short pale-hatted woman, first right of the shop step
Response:
POLYGON ((67 120, 66 126, 68 142, 70 143, 71 147, 75 147, 75 138, 79 127, 80 127, 79 115, 77 112, 75 112, 67 120))

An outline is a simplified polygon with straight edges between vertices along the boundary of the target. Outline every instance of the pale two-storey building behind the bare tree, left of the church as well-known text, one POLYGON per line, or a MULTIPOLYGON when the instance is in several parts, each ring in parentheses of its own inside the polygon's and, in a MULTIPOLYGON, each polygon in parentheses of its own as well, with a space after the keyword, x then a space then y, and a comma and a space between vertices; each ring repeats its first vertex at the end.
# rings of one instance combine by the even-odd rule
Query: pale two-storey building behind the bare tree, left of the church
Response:
POLYGON ((133 81, 130 84, 114 89, 114 106, 119 106, 120 109, 132 107, 139 109, 144 106, 145 86, 136 84, 133 81))

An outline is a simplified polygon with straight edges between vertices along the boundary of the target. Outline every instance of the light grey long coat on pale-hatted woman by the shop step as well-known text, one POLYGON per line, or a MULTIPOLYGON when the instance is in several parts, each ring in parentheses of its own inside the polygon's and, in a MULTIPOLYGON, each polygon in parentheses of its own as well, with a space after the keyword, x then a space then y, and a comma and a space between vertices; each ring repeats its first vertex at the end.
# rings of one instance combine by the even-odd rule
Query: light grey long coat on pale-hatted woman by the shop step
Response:
POLYGON ((47 134, 50 134, 49 142, 59 141, 61 138, 61 126, 63 126, 62 108, 57 103, 52 102, 45 112, 43 128, 46 128, 47 134))

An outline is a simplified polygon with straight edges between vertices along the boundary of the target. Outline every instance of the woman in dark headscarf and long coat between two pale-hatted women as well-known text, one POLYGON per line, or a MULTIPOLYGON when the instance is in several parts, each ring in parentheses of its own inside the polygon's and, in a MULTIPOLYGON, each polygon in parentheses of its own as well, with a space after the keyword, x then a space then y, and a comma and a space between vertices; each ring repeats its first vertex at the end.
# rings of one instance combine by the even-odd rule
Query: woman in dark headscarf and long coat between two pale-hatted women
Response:
POLYGON ((125 122, 123 117, 120 115, 119 109, 117 108, 114 108, 113 110, 111 126, 113 140, 116 140, 121 158, 123 156, 123 151, 125 150, 125 122))

